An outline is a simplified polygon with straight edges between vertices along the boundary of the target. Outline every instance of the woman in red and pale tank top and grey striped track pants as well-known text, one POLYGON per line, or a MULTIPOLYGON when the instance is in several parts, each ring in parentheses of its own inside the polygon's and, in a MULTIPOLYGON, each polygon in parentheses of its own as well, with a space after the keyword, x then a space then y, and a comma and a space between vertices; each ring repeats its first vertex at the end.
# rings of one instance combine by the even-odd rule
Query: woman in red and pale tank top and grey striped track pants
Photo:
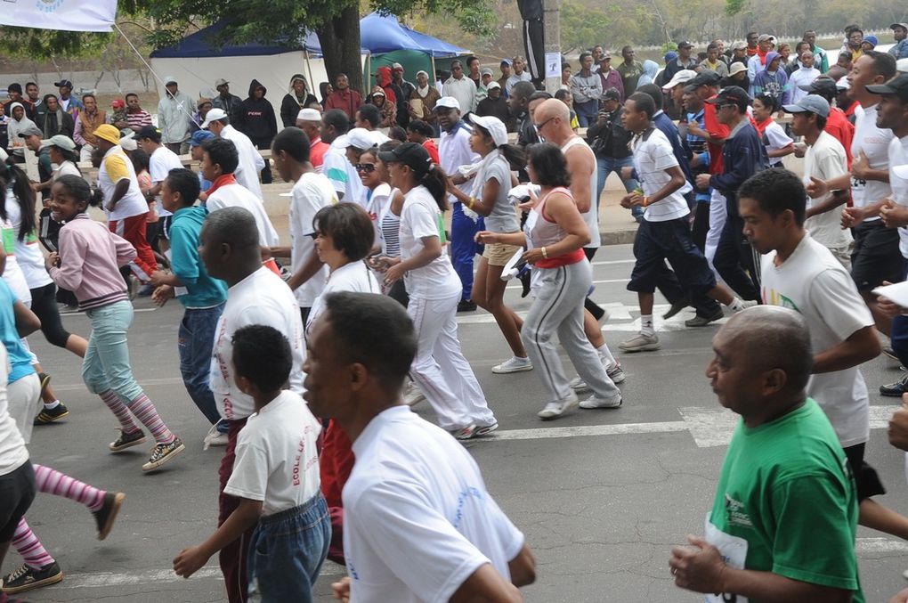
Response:
POLYGON ((621 406, 621 392, 583 331, 583 300, 592 282, 592 270, 583 252, 589 242, 589 228, 568 188, 568 162, 558 146, 534 144, 529 150, 527 172, 541 190, 524 231, 481 231, 476 239, 484 244, 526 244, 528 248, 523 258, 533 265, 538 290, 520 337, 548 394, 549 401, 538 417, 556 419, 577 406, 577 393, 558 358, 556 333, 580 378, 593 390, 580 407, 617 408, 621 406))

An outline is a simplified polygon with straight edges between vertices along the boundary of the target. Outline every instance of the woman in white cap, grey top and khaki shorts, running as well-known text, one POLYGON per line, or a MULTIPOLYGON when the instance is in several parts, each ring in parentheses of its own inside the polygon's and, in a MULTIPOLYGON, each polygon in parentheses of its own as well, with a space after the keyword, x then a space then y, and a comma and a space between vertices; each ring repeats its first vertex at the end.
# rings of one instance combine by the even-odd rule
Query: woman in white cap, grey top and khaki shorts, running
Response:
MULTIPOLYGON (((498 117, 490 115, 479 117, 477 114, 470 114, 469 119, 473 122, 469 148, 474 153, 479 153, 482 158, 479 162, 479 171, 473 180, 471 194, 464 193, 450 180, 448 192, 465 207, 485 217, 486 228, 490 232, 519 233, 520 222, 514 205, 508 200, 511 188, 510 171, 522 168, 526 158, 518 147, 508 144, 508 129, 498 117)), ((492 372, 498 374, 533 369, 533 363, 529 361, 523 342, 520 341, 523 321, 505 305, 507 282, 501 280, 501 271, 518 249, 518 245, 503 242, 486 245, 479 259, 479 268, 470 295, 470 299, 495 317, 498 329, 505 336, 505 341, 508 341, 513 353, 507 361, 492 367, 492 372)))

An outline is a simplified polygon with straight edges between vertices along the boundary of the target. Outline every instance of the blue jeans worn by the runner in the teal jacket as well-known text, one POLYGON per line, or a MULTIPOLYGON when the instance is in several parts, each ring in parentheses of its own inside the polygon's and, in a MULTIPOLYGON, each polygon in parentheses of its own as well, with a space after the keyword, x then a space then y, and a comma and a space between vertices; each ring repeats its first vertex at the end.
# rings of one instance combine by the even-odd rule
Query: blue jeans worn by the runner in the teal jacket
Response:
MULTIPOLYGON (((208 387, 208 376, 212 365, 214 331, 224 304, 213 308, 187 308, 180 321, 177 347, 180 350, 180 373, 189 397, 202 410, 205 419, 212 425, 221 420, 214 394, 208 387)), ((225 429, 226 431, 226 429, 225 429)))

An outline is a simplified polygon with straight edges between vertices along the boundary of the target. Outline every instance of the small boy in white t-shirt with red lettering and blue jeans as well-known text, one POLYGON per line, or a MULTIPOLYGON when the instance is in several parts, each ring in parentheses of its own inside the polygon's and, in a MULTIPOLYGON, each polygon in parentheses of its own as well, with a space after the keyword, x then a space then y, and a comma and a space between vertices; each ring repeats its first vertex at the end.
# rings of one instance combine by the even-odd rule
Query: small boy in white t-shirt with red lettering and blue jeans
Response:
POLYGON ((233 473, 224 493, 239 506, 212 537, 173 559, 189 578, 233 540, 255 526, 249 545, 249 596, 262 601, 311 601, 312 585, 331 541, 328 506, 319 489, 316 440, 321 430, 298 393, 282 390, 293 355, 273 327, 250 325, 233 333, 236 385, 255 402, 240 431, 233 473))

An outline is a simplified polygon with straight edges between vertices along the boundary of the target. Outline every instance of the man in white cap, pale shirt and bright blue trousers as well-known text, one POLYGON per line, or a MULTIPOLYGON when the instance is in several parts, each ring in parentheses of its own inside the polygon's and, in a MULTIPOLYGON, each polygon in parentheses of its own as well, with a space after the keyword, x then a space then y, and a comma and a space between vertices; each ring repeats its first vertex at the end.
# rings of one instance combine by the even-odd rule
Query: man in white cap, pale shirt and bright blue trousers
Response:
MULTIPOLYGON (((473 82, 465 77, 472 86, 473 82)), ((475 86, 474 86, 475 91, 475 86)), ((460 104, 453 96, 442 96, 435 104, 435 116, 439 120, 441 137, 439 138, 439 160, 444 169, 461 191, 469 194, 473 183, 460 173, 460 166, 479 163, 479 153, 469 148, 469 137, 473 129, 460 118, 460 104)), ((476 304, 470 300, 473 292, 473 258, 479 251, 474 240, 476 233, 485 229, 485 223, 478 213, 464 211, 453 195, 448 195, 451 211, 451 263, 460 277, 463 294, 460 296, 458 311, 474 311, 476 304)))

